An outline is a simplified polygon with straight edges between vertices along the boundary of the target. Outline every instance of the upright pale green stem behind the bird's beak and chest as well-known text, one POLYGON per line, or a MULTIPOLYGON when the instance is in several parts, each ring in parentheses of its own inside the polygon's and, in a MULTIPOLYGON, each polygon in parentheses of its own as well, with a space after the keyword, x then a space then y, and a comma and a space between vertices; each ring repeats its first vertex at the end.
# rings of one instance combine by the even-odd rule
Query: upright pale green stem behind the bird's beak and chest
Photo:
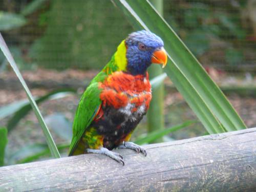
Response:
MULTIPOLYGON (((151 3, 154 5, 158 13, 163 15, 163 1, 162 0, 151 0, 151 3)), ((152 65, 148 69, 150 78, 154 78, 163 73, 163 70, 158 65, 152 65)), ((147 112, 147 132, 151 133, 157 130, 164 129, 164 85, 163 82, 156 89, 152 89, 152 100, 150 104, 150 109, 147 112)), ((163 139, 160 137, 156 140, 150 141, 150 143, 159 143, 163 139)))

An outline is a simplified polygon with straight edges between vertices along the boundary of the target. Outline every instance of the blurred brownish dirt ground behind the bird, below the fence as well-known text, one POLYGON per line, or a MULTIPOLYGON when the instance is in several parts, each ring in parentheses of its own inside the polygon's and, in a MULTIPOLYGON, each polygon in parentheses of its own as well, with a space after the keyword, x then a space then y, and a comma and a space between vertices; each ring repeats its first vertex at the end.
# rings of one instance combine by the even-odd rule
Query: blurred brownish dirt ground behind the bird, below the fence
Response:
MULTIPOLYGON (((86 84, 97 74, 97 71, 66 70, 60 72, 39 69, 36 71, 24 71, 22 74, 28 83, 32 95, 36 97, 45 95, 52 90, 67 87, 74 88, 79 93, 82 93, 86 84)), ((229 81, 229 83, 231 82, 231 84, 243 84, 244 81, 248 80, 246 76, 236 82, 236 80, 234 80, 236 78, 227 74, 217 73, 210 75, 218 84, 225 85, 228 84, 227 81, 229 81)), ((196 119, 195 114, 189 109, 183 97, 176 91, 168 91, 168 87, 172 86, 172 82, 166 79, 165 85, 165 126, 169 127, 189 119, 196 119)), ((21 99, 26 99, 26 94, 20 86, 15 74, 11 71, 0 74, 0 107, 21 99)), ((256 127, 256 98, 242 97, 236 93, 231 93, 228 95, 228 99, 245 121, 246 125, 248 127, 256 127)), ((65 98, 42 102, 39 104, 39 109, 44 117, 54 113, 62 113, 67 119, 72 121, 78 101, 79 96, 70 95, 65 98)), ((9 118, 10 117, 0 120, 0 126, 6 126, 9 118)), ((146 120, 144 119, 139 126, 141 129, 136 129, 134 135, 145 133, 146 120)), ((189 126, 187 129, 173 133, 172 138, 184 139, 204 134, 205 130, 201 123, 196 123, 193 126, 189 126)), ((57 143, 63 142, 63 140, 55 134, 53 134, 53 137, 57 140, 57 143)), ((30 112, 19 122, 15 130, 9 134, 7 151, 15 152, 26 144, 44 142, 45 138, 37 123, 37 119, 33 112, 30 112)))

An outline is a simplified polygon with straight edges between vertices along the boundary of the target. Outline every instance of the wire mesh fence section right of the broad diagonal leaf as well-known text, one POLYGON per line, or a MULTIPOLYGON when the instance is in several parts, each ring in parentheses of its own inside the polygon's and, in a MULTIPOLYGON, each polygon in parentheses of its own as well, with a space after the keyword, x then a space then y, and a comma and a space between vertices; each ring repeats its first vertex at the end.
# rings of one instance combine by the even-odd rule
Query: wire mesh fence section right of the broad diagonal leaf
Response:
POLYGON ((255 5, 250 0, 172 1, 165 17, 204 65, 255 68, 255 5))

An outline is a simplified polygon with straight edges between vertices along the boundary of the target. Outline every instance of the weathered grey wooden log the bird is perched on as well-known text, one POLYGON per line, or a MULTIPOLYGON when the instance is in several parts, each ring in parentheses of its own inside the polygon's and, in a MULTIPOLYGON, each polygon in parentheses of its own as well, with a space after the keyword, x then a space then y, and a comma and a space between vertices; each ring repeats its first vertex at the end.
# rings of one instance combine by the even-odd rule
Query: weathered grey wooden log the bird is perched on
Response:
POLYGON ((0 168, 0 191, 256 191, 256 128, 0 168))

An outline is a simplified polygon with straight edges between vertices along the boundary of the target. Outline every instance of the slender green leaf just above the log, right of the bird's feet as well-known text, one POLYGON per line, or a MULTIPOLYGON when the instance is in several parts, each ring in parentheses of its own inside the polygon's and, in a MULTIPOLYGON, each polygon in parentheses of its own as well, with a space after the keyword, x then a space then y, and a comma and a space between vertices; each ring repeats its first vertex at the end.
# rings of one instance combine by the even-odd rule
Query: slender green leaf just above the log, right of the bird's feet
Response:
POLYGON ((192 124, 192 123, 195 123, 197 121, 186 121, 182 124, 179 124, 179 125, 175 125, 175 126, 172 126, 172 127, 169 127, 169 128, 166 128, 164 130, 158 130, 158 131, 154 131, 154 132, 151 132, 151 133, 148 133, 146 137, 143 137, 143 138, 139 138, 135 141, 135 143, 137 143, 138 145, 141 145, 141 144, 145 144, 145 143, 148 143, 148 142, 151 142, 151 141, 154 141, 158 138, 161 138, 169 133, 172 133, 172 132, 175 132, 177 130, 180 130, 182 128, 185 128, 187 127, 188 125, 192 124))

